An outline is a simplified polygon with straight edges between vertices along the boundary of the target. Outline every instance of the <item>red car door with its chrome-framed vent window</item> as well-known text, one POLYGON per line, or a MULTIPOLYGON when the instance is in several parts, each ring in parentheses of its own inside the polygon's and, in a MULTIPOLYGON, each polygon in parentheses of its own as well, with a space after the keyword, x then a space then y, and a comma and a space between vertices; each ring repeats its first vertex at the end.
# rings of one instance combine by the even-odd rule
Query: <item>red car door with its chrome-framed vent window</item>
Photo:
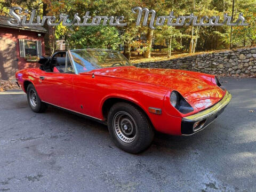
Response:
POLYGON ((72 110, 73 78, 75 73, 68 54, 66 54, 66 69, 67 68, 69 68, 69 70, 64 73, 44 71, 39 77, 37 90, 42 101, 72 110))

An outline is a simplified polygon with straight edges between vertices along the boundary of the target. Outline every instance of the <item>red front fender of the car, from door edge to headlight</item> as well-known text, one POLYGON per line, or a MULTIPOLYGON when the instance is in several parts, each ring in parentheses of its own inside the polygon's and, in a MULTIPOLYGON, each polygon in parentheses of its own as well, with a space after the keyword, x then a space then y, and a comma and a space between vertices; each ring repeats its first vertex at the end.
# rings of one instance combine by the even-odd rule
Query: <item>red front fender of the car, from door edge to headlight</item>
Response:
MULTIPOLYGON (((149 107, 164 108, 164 87, 149 86, 141 82, 124 81, 122 79, 109 78, 91 74, 77 75, 73 81, 75 111, 95 118, 106 120, 102 114, 103 103, 109 98, 119 98, 133 102, 142 108, 148 115, 156 130, 180 134, 181 118, 167 114, 156 115, 148 112, 149 107), (83 108, 81 108, 83 106, 83 108), (175 121, 177 125, 166 126, 165 119, 175 121), (178 121, 177 121, 178 119, 178 121)), ((173 124, 173 123, 172 123, 173 124)))

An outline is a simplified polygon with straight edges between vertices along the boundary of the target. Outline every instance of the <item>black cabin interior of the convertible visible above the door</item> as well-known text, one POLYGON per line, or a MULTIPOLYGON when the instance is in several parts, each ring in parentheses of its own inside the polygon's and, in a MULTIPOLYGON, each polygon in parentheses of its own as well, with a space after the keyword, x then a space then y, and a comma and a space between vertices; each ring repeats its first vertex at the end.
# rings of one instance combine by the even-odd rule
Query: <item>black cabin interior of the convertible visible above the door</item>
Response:
POLYGON ((51 57, 41 56, 38 63, 41 64, 40 66, 41 70, 44 70, 47 72, 65 73, 66 51, 55 52, 51 57))

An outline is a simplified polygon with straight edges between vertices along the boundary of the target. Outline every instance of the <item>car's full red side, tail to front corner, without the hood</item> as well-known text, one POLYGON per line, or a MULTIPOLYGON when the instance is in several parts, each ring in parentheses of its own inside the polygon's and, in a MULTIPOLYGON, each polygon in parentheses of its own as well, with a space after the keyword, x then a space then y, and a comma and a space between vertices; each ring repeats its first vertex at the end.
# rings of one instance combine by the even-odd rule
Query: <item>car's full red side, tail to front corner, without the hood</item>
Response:
MULTIPOLYGON (((156 115, 148 112, 148 107, 161 108, 163 110, 164 97, 167 92, 164 87, 97 75, 92 78, 91 74, 45 73, 41 69, 19 71, 17 79, 25 92, 24 82, 33 83, 42 101, 95 117, 102 121, 105 120, 103 119, 102 106, 107 99, 120 98, 133 102, 145 111, 157 131, 181 134, 180 117, 170 116, 165 113, 156 115), (40 79, 41 76, 44 76, 45 79, 40 79), (70 76, 73 76, 73 79, 65 81, 65 78, 70 78, 70 76), (167 125, 166 119, 169 121, 167 125), (170 129, 170 126, 172 129, 170 129)), ((177 111, 176 113, 176 115, 179 115, 177 111)))

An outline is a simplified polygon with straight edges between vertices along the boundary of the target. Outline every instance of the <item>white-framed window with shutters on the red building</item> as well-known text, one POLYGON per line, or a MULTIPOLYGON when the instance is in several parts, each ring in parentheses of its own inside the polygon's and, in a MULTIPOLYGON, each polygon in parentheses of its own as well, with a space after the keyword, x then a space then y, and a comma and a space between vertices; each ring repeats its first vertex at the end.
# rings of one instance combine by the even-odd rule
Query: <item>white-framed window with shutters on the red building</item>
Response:
POLYGON ((41 41, 31 41, 27 39, 19 39, 20 57, 42 55, 41 41))

